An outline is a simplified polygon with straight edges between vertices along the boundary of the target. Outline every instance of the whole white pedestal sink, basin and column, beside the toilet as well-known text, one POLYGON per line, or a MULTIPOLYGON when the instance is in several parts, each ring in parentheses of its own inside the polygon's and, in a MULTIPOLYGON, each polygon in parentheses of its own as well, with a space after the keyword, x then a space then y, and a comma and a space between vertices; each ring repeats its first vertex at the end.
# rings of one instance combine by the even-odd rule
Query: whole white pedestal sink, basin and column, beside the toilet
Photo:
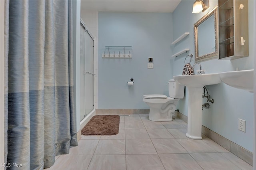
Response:
POLYGON ((177 75, 173 76, 173 79, 188 89, 188 132, 186 136, 192 139, 202 139, 202 87, 220 83, 220 76, 218 73, 177 75))

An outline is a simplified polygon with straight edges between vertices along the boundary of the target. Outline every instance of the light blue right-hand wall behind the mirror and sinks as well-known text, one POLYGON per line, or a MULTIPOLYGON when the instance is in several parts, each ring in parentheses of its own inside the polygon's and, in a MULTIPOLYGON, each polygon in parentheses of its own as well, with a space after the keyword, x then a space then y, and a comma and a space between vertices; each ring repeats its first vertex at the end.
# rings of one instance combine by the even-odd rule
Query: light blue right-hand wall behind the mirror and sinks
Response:
MULTIPOLYGON (((194 23, 202 16, 210 12, 216 5, 216 0, 210 0, 210 8, 204 13, 192 14, 192 6, 194 1, 182 0, 176 10, 172 13, 173 20, 173 39, 175 40, 184 32, 190 32, 187 39, 173 47, 174 53, 184 48, 190 48, 189 53, 194 54, 194 23)), ((235 59, 232 61, 223 61, 212 59, 201 61, 202 69, 206 69, 206 73, 220 73, 224 71, 234 71, 236 67, 240 70, 253 69, 254 61, 254 44, 253 34, 255 28, 253 26, 253 3, 249 0, 249 57, 235 59)), ((173 75, 181 75, 184 66, 186 54, 175 57, 173 60, 173 75)), ((194 60, 194 59, 193 59, 194 60)), ((192 61, 194 63, 194 61, 192 61)), ((214 104, 210 104, 210 109, 204 109, 202 124, 210 128, 214 132, 228 138, 232 142, 253 150, 253 93, 235 89, 224 83, 218 85, 207 86, 211 97, 215 100, 214 104), (238 130, 238 119, 246 121, 246 132, 238 130)), ((188 114, 188 93, 186 91, 185 98, 178 103, 180 113, 188 114)), ((206 100, 204 99, 204 102, 206 100)))

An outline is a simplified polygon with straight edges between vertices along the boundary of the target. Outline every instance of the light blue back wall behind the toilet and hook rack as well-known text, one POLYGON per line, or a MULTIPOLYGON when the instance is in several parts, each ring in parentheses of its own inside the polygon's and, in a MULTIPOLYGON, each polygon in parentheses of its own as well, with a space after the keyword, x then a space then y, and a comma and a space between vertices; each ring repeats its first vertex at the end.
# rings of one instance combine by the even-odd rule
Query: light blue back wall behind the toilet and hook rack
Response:
POLYGON ((168 95, 171 42, 171 13, 99 12, 98 108, 149 109, 143 95, 168 95), (102 58, 105 46, 122 45, 132 46, 132 59, 102 58), (149 57, 154 69, 147 69, 149 57), (135 83, 128 87, 131 78, 135 83))

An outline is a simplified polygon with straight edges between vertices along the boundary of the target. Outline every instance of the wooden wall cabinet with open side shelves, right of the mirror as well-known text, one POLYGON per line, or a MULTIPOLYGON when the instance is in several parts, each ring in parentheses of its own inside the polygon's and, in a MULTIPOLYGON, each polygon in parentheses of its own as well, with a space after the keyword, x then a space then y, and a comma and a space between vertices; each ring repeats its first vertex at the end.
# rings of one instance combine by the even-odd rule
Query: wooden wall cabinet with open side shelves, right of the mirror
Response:
POLYGON ((249 55, 248 0, 218 0, 219 59, 249 55))

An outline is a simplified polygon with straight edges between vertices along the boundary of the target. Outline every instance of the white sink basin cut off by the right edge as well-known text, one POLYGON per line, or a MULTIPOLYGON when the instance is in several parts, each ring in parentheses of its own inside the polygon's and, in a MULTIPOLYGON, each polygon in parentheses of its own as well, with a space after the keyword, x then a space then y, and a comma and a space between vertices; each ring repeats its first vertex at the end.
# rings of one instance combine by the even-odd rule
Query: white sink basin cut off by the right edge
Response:
POLYGON ((220 79, 232 87, 253 93, 253 69, 219 73, 220 79))

